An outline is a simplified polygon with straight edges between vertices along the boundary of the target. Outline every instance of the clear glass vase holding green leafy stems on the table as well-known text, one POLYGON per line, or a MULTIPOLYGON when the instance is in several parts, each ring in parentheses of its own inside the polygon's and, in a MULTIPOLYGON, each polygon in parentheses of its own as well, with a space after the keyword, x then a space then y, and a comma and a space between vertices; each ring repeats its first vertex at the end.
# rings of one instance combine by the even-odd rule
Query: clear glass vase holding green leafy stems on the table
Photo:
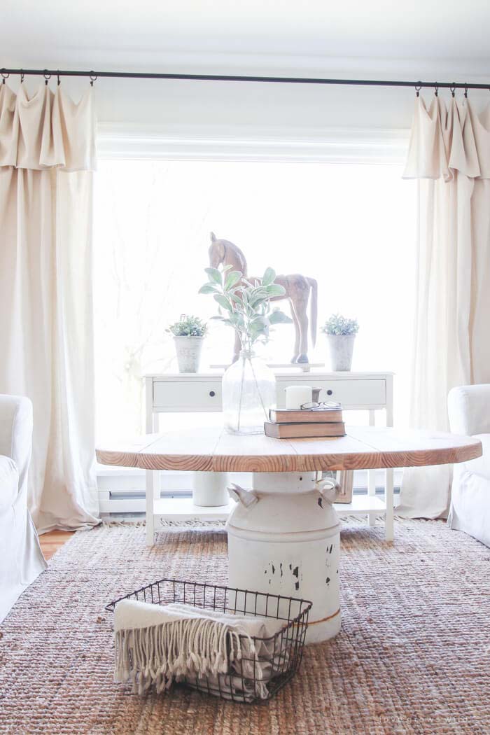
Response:
POLYGON ((223 375, 223 415, 229 434, 263 434, 275 408, 275 376, 252 351, 242 350, 223 375))

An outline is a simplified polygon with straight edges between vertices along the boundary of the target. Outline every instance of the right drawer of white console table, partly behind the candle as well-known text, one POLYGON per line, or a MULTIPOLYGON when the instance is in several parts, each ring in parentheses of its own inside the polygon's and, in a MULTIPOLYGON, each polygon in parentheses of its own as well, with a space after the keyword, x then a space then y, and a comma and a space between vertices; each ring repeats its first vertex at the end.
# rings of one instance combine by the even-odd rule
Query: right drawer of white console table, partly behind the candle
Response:
POLYGON ((339 401, 344 408, 349 406, 384 406, 386 404, 386 381, 384 380, 353 380, 353 379, 318 379, 307 377, 303 380, 279 382, 278 406, 286 403, 284 387, 299 384, 322 388, 320 401, 339 401))

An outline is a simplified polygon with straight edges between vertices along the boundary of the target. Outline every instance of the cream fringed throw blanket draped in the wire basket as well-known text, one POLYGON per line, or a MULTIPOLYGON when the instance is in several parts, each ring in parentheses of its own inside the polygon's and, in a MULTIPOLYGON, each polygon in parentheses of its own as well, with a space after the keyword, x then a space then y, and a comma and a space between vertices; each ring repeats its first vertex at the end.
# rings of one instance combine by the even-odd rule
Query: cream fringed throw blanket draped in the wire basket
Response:
MULTIPOLYGON (((180 603, 153 605, 121 600, 115 607, 115 681, 134 690, 156 684, 165 692, 173 681, 205 686, 242 700, 267 698, 272 661, 279 663, 275 639, 284 623, 238 616, 180 603), (263 659, 267 658, 268 661, 263 659)), ((284 665, 284 660, 282 664, 284 665)))

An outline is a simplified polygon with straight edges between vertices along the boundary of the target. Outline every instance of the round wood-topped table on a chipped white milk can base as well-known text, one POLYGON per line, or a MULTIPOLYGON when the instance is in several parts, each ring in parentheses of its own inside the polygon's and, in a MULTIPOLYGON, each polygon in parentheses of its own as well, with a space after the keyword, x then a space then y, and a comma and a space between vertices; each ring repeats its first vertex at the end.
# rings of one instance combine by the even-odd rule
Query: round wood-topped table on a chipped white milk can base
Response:
MULTIPOLYGON (((253 473, 250 490, 232 492, 237 503, 227 522, 228 584, 244 596, 251 590, 311 600, 306 640, 314 642, 340 629, 339 522, 318 473, 445 465, 481 453, 481 443, 472 437, 430 431, 349 427, 345 437, 278 440, 226 434, 212 426, 146 434, 98 448, 97 459, 145 470, 253 473)), ((154 488, 147 487, 150 545, 154 503, 154 488)), ((246 606, 246 597, 243 601, 246 606)))

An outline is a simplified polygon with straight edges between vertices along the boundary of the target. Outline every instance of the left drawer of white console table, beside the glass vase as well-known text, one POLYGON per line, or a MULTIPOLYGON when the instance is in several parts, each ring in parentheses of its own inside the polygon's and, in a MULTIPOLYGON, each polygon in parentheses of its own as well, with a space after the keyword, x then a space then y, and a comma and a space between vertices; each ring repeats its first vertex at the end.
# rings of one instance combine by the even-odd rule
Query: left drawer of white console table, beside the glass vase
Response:
POLYGON ((221 378, 210 381, 154 381, 154 408, 174 411, 220 411, 221 378))

